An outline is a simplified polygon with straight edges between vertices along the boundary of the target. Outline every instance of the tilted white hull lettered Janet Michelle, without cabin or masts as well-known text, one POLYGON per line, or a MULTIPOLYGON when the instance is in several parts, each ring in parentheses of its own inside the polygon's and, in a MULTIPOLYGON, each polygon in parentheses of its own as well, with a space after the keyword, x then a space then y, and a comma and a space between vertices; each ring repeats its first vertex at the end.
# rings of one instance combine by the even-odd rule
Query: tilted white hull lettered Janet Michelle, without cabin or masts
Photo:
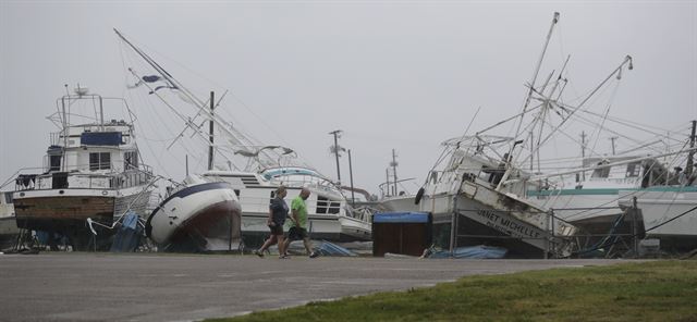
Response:
POLYGON ((433 215, 438 246, 450 247, 454 223, 455 247, 500 246, 511 258, 571 255, 573 245, 565 237, 575 233, 574 226, 484 185, 465 182, 457 191, 426 195, 419 202, 421 211, 433 215))

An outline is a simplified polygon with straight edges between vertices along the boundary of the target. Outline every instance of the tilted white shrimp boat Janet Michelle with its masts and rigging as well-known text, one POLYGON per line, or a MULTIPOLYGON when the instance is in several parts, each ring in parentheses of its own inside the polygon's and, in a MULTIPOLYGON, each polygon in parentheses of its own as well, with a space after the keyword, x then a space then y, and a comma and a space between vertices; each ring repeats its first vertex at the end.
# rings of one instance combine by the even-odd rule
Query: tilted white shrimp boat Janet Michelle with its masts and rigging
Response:
MULTIPOLYGON (((509 257, 518 258, 568 257, 578 250, 578 227, 560 218, 555 209, 534 202, 528 196, 530 190, 542 190, 546 178, 554 174, 526 171, 523 165, 534 158, 539 160, 550 137, 559 134, 572 116, 582 113, 601 88, 612 79, 620 81, 622 72, 632 70, 633 64, 632 58, 625 57, 578 100, 580 103, 565 103, 562 95, 568 81, 563 75, 568 58, 562 69, 552 71, 541 82, 538 79, 559 17, 554 13, 533 79, 526 85, 522 111, 473 135, 465 133, 443 143, 450 160, 429 172, 415 199, 420 211, 433 214, 433 238, 438 246, 451 250, 482 244, 501 246, 509 250, 509 257), (511 126, 503 128, 506 124, 511 126)), ((576 168, 568 173, 594 169, 576 168)))

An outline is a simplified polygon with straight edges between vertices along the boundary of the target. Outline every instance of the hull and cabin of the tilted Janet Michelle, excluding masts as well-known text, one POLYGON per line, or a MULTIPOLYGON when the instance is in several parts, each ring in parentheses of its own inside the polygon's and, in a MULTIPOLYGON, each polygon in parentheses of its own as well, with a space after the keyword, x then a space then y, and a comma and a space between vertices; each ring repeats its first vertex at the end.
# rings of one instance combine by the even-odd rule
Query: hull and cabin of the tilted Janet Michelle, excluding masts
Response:
MULTIPOLYGON (((478 136, 472 141, 479 141, 478 136)), ((416 196, 419 211, 433 215, 437 246, 454 249, 463 246, 504 247, 509 257, 566 257, 574 250, 576 227, 551 215, 547 209, 527 202, 524 182, 500 186, 506 168, 500 168, 463 139, 453 145, 450 161, 431 176, 416 196), (500 169, 501 172, 492 172, 500 169), (499 176, 500 175, 500 176, 499 176)), ((515 171, 511 178, 525 174, 515 171)))

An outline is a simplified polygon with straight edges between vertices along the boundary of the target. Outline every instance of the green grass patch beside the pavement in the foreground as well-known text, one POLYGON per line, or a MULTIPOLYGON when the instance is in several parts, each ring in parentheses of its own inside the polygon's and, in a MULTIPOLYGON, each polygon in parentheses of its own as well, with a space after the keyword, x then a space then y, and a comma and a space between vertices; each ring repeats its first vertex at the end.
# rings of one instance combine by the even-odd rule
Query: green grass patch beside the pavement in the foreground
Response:
POLYGON ((697 321, 697 261, 554 269, 210 321, 697 321))

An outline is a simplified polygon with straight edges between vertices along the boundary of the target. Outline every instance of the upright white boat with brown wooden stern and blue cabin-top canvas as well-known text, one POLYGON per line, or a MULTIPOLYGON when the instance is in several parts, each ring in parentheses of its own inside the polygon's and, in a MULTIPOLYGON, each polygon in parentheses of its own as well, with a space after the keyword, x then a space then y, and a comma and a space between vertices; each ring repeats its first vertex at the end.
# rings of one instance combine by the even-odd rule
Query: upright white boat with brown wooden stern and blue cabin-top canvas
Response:
MULTIPOLYGON (((51 134, 41 173, 21 173, 13 194, 16 224, 68 238, 74 250, 106 249, 112 233, 95 236, 88 220, 112 225, 126 211, 144 218, 150 202, 152 172, 140 162, 134 116, 125 100, 78 87, 57 100, 49 116, 51 134), (129 121, 106 119, 125 111, 129 121)), ((50 245, 54 246, 54 245, 50 245)))

